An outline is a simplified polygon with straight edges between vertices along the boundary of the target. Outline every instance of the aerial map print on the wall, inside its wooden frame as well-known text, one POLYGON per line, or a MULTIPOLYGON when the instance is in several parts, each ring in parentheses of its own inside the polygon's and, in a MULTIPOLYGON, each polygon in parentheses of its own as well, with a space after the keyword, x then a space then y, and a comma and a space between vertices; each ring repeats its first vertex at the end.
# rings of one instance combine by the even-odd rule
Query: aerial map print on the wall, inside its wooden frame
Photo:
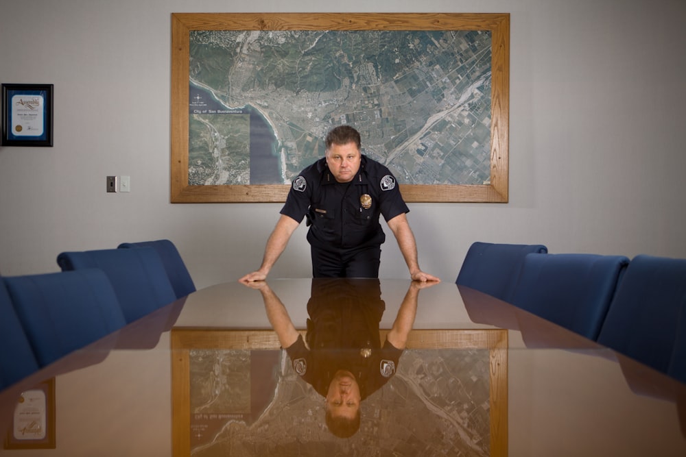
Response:
POLYGON ((490 179, 488 31, 191 31, 189 184, 287 184, 349 123, 403 184, 490 179))

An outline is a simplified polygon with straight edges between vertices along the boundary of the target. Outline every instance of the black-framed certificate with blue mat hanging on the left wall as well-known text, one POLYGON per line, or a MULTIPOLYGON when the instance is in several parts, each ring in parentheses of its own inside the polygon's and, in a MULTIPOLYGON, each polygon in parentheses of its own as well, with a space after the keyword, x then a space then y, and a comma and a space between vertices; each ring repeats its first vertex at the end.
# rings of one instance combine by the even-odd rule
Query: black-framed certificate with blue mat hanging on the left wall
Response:
POLYGON ((0 145, 52 147, 53 87, 53 84, 2 85, 0 145))

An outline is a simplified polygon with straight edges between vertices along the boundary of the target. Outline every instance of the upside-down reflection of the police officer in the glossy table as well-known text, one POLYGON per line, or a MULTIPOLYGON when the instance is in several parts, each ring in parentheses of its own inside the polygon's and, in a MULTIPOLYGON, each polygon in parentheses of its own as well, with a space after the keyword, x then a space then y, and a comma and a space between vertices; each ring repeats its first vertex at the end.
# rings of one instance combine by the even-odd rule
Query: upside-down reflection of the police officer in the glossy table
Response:
POLYGON ((326 399, 329 430, 346 438, 359 429, 360 402, 396 373, 414 323, 418 293, 433 284, 410 283, 383 345, 379 322, 385 304, 379 280, 313 279, 304 340, 266 282, 248 286, 262 293, 269 321, 296 373, 326 399))

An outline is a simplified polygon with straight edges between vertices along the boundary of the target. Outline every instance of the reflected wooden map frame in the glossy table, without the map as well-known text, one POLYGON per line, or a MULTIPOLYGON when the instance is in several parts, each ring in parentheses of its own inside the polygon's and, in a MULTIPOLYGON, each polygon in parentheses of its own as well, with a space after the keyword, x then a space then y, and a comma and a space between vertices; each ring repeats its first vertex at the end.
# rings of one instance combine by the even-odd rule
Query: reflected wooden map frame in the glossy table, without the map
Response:
MULTIPOLYGON (((381 330, 381 341, 388 330, 381 330)), ((305 331, 300 331, 305 337, 305 331)), ((191 452, 191 349, 279 349, 272 330, 171 330, 172 455, 191 452)), ((407 349, 488 349, 490 455, 508 455, 508 331, 412 330, 407 349)))

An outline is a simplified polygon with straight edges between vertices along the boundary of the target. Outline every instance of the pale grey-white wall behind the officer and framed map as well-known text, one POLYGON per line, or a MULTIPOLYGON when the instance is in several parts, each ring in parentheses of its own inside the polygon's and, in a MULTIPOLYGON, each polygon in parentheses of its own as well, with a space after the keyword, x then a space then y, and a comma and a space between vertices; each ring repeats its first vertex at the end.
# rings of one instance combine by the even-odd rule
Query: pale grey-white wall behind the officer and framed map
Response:
MULTIPOLYGON (((510 202, 411 203, 425 271, 475 240, 686 257, 682 0, 0 0, 0 82, 55 86, 54 147, 0 147, 1 273, 163 237, 198 287, 257 268, 280 204, 169 203, 169 14, 279 11, 511 13, 510 202)), ((271 277, 310 275, 305 231, 271 277)), ((381 263, 407 277, 392 236, 381 263)))

